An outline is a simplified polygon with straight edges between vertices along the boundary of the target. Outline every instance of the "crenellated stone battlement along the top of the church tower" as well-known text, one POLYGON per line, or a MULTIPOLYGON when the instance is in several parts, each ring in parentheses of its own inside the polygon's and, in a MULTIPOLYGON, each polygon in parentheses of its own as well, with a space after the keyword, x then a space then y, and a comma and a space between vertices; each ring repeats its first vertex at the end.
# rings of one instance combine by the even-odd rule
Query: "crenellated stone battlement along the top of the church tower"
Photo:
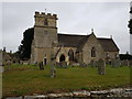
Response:
POLYGON ((50 19, 56 19, 57 20, 57 14, 52 14, 52 13, 45 13, 45 12, 37 12, 35 11, 35 18, 40 16, 40 18, 50 18, 50 19))

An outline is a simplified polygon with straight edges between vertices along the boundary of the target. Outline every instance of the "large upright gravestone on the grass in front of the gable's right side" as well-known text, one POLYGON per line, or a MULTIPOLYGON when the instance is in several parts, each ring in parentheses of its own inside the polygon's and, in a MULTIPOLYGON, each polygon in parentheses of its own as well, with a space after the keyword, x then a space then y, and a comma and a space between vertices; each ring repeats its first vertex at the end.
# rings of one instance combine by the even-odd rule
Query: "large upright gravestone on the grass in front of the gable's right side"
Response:
POLYGON ((103 59, 99 59, 97 63, 98 66, 98 74, 99 75, 106 75, 106 63, 103 59))

